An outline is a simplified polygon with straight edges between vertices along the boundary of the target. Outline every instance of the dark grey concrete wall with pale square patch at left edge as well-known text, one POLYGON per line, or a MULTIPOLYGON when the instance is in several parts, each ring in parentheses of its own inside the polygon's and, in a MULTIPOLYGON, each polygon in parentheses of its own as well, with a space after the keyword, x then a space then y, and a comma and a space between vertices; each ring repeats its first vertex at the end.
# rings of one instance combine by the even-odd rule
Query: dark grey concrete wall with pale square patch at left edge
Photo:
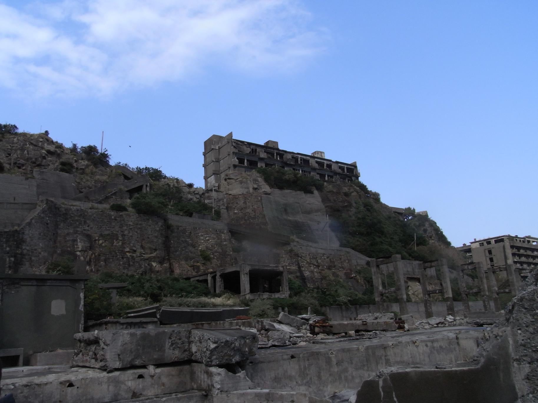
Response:
POLYGON ((0 275, 0 349, 73 349, 83 331, 82 276, 0 275))

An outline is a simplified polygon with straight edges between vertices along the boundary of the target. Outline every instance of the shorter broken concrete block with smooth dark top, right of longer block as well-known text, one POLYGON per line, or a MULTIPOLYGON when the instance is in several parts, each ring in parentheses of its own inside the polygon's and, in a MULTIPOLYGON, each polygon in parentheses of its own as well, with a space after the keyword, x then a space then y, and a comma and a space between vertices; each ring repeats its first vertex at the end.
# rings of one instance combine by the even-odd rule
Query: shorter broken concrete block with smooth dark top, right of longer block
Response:
POLYGON ((193 329, 192 359, 207 366, 237 363, 256 355, 258 334, 242 329, 193 329))

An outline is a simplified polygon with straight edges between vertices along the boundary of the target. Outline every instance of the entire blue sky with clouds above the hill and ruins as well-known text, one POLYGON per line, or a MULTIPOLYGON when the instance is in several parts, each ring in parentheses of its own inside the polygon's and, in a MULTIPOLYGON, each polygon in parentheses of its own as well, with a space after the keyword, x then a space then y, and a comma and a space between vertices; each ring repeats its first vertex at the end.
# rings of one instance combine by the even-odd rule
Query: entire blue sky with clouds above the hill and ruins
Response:
POLYGON ((0 0, 0 121, 203 186, 233 131, 357 161, 449 240, 538 236, 538 3, 0 0), (131 146, 131 147, 129 147, 131 146))

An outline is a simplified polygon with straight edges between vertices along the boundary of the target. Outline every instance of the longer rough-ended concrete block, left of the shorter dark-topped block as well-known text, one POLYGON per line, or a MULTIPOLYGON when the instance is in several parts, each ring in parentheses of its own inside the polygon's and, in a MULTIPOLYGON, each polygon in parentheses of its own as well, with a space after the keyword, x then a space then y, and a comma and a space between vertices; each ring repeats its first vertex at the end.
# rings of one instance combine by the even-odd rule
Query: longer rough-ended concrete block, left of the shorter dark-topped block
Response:
POLYGON ((189 330, 103 330, 75 334, 73 366, 129 368, 190 359, 189 330))

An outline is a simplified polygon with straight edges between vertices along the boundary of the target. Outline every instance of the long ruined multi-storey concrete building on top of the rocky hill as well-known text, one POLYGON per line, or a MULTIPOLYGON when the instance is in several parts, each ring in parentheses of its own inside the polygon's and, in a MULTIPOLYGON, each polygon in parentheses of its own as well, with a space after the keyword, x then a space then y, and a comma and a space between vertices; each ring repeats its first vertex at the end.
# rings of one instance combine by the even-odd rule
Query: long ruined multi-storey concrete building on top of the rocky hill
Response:
POLYGON ((246 172, 258 167, 293 169, 323 181, 352 182, 360 177, 357 162, 345 163, 325 158, 323 151, 312 154, 295 153, 278 148, 278 141, 263 145, 235 140, 232 133, 213 135, 204 141, 204 180, 206 189, 221 182, 227 172, 246 172))

